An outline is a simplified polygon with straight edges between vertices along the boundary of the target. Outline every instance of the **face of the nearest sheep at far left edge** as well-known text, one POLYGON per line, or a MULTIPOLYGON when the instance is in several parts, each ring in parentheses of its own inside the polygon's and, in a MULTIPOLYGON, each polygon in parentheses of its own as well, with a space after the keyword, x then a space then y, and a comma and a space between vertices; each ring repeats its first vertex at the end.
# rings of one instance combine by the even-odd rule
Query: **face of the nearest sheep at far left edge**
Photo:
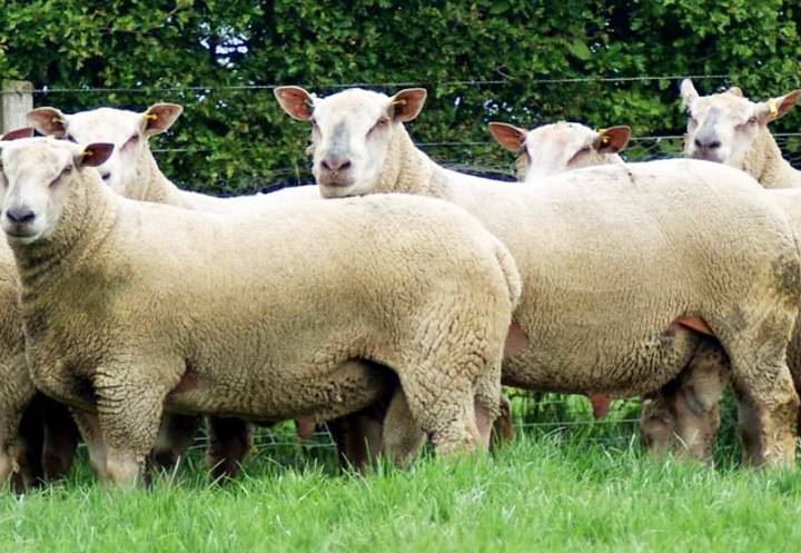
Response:
POLYGON ((102 165, 112 148, 111 145, 82 148, 51 138, 3 142, 0 227, 9 243, 31 244, 50 236, 61 216, 67 188, 76 186, 73 175, 82 167, 102 165))

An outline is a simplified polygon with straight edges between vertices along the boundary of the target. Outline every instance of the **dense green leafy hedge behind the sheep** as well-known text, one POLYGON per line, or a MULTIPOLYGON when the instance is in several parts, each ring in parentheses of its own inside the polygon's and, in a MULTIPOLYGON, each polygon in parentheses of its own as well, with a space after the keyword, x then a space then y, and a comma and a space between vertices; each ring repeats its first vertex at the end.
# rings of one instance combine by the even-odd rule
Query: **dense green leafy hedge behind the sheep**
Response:
MULTIPOLYGON (((0 76, 37 88, 119 89, 37 95, 38 106, 66 111, 182 103, 185 116, 156 147, 188 150, 159 161, 185 186, 236 194, 307 178, 308 130, 269 88, 226 87, 422 85, 431 98, 414 124, 421 141, 488 141, 491 119, 681 134, 675 79, 536 80, 721 75, 700 90, 736 83, 772 96, 799 86, 800 21, 794 0, 4 0, 0 76), (475 80, 501 82, 465 83, 475 80)), ((777 129, 797 130, 799 120, 793 113, 777 129)), ((508 162, 501 148, 484 151, 508 162)), ((433 154, 464 162, 476 155, 433 154)))

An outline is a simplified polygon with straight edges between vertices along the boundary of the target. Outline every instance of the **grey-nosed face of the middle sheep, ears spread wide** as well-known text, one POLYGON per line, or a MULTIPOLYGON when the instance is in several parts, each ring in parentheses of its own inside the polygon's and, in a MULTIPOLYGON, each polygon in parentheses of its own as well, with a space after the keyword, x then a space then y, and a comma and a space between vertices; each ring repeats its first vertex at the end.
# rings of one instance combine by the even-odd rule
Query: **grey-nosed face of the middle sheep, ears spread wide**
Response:
POLYGON ((312 124, 313 172, 326 198, 375 191, 393 137, 417 117, 426 91, 402 90, 392 98, 349 89, 318 98, 298 87, 275 91, 295 119, 312 124))

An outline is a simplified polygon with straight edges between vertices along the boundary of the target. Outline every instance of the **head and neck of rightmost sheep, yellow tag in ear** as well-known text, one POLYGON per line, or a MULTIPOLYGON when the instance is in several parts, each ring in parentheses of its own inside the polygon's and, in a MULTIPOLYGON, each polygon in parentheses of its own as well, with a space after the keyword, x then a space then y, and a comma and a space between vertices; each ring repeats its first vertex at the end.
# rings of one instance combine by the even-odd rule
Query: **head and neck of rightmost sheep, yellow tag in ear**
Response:
POLYGON ((681 83, 688 112, 684 154, 742 169, 765 188, 801 187, 801 171, 783 157, 768 124, 790 111, 801 90, 768 101, 752 102, 736 87, 699 96, 690 79, 681 83))

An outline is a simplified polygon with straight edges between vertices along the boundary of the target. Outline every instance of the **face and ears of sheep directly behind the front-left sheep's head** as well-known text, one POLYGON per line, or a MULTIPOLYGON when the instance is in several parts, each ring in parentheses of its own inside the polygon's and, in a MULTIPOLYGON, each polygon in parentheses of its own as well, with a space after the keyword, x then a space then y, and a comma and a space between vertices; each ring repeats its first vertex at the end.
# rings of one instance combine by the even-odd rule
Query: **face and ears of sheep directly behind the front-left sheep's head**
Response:
POLYGON ((129 188, 138 178, 137 160, 148 148, 147 139, 167 130, 181 110, 175 103, 156 103, 144 113, 99 108, 66 115, 56 108, 38 108, 28 112, 27 117, 44 135, 76 144, 115 145, 111 157, 97 169, 113 191, 130 196, 129 188))

